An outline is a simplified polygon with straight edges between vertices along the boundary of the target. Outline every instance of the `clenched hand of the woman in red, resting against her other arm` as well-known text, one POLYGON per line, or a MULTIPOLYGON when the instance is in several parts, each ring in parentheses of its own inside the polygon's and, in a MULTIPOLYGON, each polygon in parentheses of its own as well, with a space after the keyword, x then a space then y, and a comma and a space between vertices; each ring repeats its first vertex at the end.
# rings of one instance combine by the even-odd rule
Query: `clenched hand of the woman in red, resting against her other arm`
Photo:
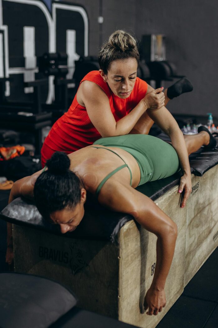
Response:
POLYGON ((159 109, 164 106, 163 87, 148 92, 142 99, 147 109, 159 109))

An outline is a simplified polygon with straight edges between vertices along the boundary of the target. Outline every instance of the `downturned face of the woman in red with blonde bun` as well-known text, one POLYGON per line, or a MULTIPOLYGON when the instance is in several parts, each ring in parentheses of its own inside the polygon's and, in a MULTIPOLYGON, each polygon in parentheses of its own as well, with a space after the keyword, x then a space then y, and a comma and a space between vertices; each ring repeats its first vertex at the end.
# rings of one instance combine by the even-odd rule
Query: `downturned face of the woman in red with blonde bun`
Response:
POLYGON ((99 70, 104 81, 108 83, 111 91, 119 98, 126 99, 131 94, 137 73, 137 60, 128 58, 114 60, 107 74, 99 70))

